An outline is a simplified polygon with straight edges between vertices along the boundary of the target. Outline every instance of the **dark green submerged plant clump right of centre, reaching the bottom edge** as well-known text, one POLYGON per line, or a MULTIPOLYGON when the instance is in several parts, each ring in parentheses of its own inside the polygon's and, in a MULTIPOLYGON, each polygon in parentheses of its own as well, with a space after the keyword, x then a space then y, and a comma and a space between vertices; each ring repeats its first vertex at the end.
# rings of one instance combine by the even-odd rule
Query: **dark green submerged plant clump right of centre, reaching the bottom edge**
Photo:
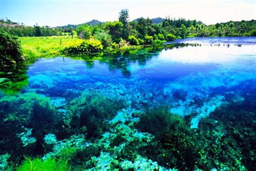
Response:
POLYGON ((191 139, 193 134, 183 118, 171 114, 167 107, 154 108, 140 117, 136 128, 155 137, 142 150, 143 155, 166 168, 194 168, 197 154, 191 139))

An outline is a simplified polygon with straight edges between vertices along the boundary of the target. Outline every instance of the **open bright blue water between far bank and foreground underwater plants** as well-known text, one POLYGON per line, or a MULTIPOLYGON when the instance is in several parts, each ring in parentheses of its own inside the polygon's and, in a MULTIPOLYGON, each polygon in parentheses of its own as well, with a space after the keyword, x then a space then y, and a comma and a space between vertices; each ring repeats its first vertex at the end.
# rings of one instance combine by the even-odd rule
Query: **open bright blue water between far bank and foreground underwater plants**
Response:
MULTIPOLYGON (((123 99, 126 107, 136 110, 168 106, 171 113, 190 118, 188 125, 197 129, 200 120, 218 107, 244 101, 245 94, 256 92, 255 37, 189 38, 174 43, 198 45, 42 58, 23 73, 24 86, 15 94, 2 88, 1 98, 36 93, 50 98, 58 112, 67 115, 66 106, 73 99, 83 92, 98 92, 123 99)), ((13 75, 17 72, 2 73, 18 82, 13 75)))

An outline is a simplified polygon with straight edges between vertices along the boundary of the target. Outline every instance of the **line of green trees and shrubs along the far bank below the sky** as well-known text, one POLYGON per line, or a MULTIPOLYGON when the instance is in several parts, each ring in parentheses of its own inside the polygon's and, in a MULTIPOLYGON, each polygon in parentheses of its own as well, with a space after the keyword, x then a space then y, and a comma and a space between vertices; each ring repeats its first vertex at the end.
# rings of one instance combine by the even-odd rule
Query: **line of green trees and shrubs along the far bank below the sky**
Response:
POLYGON ((49 26, 11 26, 10 19, 0 20, 1 27, 11 35, 19 37, 39 37, 39 36, 60 36, 71 35, 76 31, 80 38, 97 37, 107 42, 122 43, 126 40, 132 45, 150 44, 160 41, 171 41, 176 38, 186 37, 217 37, 217 36, 255 36, 256 21, 254 19, 241 22, 217 23, 205 25, 197 20, 187 20, 184 18, 166 17, 162 23, 154 24, 149 18, 138 18, 130 21, 129 11, 123 9, 119 13, 118 21, 106 22, 96 25, 79 25, 75 28, 50 28, 49 26), (9 24, 6 24, 9 23, 9 24), (106 40, 108 39, 108 40, 106 40), (110 40, 111 39, 111 40, 110 40))

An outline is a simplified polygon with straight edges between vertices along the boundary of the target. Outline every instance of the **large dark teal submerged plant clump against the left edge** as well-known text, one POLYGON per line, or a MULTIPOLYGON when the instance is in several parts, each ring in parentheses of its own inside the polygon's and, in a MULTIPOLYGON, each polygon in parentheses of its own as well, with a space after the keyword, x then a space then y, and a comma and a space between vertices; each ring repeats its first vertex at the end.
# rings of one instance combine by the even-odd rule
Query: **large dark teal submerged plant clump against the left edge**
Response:
POLYGON ((43 154, 46 133, 63 136, 62 116, 50 106, 49 98, 36 93, 0 99, 0 115, 1 151, 11 152, 15 163, 26 154, 43 154))

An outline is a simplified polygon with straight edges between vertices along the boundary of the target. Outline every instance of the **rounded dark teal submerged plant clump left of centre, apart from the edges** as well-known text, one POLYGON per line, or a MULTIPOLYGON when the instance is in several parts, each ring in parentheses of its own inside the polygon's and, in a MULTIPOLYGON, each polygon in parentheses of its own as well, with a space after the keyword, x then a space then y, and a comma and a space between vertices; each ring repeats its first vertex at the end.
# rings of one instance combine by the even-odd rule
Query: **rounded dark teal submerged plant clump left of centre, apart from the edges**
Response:
POLYGON ((85 91, 70 102, 70 112, 65 118, 65 124, 71 131, 80 129, 89 137, 97 136, 104 131, 106 120, 111 119, 114 113, 123 107, 124 102, 120 99, 111 99, 97 92, 85 91))

